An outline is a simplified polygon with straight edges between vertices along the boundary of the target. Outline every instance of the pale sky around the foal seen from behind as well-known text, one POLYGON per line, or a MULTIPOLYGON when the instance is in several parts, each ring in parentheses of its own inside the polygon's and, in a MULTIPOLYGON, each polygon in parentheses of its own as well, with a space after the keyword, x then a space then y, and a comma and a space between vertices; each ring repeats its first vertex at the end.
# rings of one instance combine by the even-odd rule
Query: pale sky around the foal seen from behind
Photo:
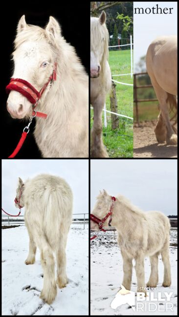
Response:
MULTIPOLYGON (((89 212, 88 159, 8 159, 2 160, 2 208, 12 215, 18 178, 33 178, 41 173, 64 178, 73 192, 73 214, 89 212)), ((23 215, 24 208, 22 209, 23 215)), ((4 213, 2 213, 4 215, 4 213)), ((86 215, 87 216, 87 215, 86 215)), ((78 217, 78 215, 76 215, 78 217)))

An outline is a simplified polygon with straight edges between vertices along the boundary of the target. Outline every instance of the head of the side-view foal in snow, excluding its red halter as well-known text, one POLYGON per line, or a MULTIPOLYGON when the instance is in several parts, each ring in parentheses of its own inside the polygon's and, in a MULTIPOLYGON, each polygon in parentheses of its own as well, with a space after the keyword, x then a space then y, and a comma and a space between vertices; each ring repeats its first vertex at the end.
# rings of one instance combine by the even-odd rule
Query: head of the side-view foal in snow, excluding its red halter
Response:
MULTIPOLYGON (((112 199, 111 196, 108 195, 108 193, 103 189, 103 192, 100 191, 100 194, 98 195, 96 200, 97 201, 92 211, 92 214, 97 218, 102 219, 108 214, 112 203, 112 199)), ((104 222, 104 226, 108 226, 108 222, 109 219, 107 219, 104 222)), ((90 228, 94 230, 99 230, 98 224, 93 222, 92 220, 90 221, 90 228)))

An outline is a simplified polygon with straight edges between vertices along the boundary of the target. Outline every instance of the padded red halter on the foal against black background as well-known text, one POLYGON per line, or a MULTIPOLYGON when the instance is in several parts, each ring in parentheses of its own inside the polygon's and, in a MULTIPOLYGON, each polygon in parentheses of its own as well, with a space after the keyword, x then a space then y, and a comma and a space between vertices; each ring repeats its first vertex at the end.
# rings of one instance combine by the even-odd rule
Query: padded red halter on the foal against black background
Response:
MULTIPOLYGON (((57 63, 54 63, 54 69, 52 75, 49 77, 48 81, 42 87, 42 89, 38 92, 35 87, 33 87, 28 81, 20 78, 11 78, 10 83, 6 86, 7 94, 10 93, 11 90, 16 90, 21 93, 24 97, 26 97, 33 105, 33 111, 42 97, 45 88, 48 86, 49 82, 52 80, 56 80, 57 78, 57 63)), ((34 112, 32 111, 32 115, 34 112)), ((36 112, 37 117, 45 118, 47 117, 46 114, 41 112, 36 112)))

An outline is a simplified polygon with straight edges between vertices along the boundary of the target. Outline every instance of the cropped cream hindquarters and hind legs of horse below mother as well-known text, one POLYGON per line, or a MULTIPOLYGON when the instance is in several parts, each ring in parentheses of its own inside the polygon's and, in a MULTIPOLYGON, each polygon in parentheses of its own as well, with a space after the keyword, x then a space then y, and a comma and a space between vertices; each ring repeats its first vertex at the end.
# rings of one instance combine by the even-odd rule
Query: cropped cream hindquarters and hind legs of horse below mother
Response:
POLYGON ((146 55, 147 71, 159 101, 160 114, 155 128, 158 143, 177 144, 177 36, 154 40, 146 55), (171 124, 170 110, 174 110, 171 124))

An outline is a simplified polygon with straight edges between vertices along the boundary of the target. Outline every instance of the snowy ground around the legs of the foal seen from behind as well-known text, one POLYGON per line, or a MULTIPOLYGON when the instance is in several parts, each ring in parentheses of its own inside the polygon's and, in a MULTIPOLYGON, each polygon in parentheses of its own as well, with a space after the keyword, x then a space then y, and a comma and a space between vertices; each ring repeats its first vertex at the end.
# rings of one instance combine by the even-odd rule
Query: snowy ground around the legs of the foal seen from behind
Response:
POLYGON ((36 262, 25 265, 28 234, 25 226, 2 230, 2 315, 88 315, 88 225, 72 225, 67 241, 68 284, 58 289, 48 305, 39 297, 43 288, 40 252, 36 262))

